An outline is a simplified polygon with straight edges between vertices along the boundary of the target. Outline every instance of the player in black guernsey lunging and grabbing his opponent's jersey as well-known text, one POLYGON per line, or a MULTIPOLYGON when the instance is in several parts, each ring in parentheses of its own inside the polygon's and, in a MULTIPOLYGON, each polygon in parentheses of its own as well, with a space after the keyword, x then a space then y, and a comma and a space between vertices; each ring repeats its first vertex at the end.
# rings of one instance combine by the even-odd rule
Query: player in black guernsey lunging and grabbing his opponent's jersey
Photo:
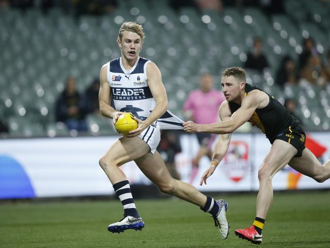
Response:
POLYGON ((246 83, 242 68, 227 68, 221 74, 222 91, 227 101, 219 109, 222 121, 212 124, 183 123, 188 133, 207 132, 220 134, 210 167, 205 171, 200 184, 206 184, 219 162, 223 159, 230 142, 230 134, 246 121, 258 127, 272 144, 259 170, 259 193, 256 218, 251 227, 238 229, 235 234, 254 244, 262 241, 262 228, 273 202, 273 176, 287 164, 317 182, 330 177, 330 160, 324 165, 305 147, 305 132, 298 119, 293 117, 280 102, 265 91, 246 83))

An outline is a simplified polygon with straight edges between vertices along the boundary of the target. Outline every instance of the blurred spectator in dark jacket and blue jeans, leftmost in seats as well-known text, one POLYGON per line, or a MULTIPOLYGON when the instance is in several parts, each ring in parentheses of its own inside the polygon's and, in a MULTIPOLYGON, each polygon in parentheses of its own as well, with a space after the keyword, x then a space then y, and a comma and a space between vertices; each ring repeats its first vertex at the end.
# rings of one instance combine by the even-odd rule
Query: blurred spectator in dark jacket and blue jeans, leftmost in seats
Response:
POLYGON ((76 79, 68 77, 65 88, 56 102, 56 121, 64 122, 70 130, 87 131, 87 113, 87 102, 77 90, 76 79))

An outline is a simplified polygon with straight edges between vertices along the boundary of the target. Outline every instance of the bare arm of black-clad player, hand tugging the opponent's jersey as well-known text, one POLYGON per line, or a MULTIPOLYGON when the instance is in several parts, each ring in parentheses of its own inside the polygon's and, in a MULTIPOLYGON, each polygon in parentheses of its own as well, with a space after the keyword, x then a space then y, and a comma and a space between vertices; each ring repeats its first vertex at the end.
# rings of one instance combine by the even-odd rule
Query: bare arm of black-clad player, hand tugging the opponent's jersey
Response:
MULTIPOLYGON (((229 134, 248 121, 253 112, 269 101, 268 95, 259 90, 249 92, 242 100, 241 107, 233 113, 230 119, 212 124, 196 124, 192 121, 183 123, 183 129, 188 133, 205 132, 213 134, 229 134)), ((267 104, 266 104, 267 105, 267 104)))

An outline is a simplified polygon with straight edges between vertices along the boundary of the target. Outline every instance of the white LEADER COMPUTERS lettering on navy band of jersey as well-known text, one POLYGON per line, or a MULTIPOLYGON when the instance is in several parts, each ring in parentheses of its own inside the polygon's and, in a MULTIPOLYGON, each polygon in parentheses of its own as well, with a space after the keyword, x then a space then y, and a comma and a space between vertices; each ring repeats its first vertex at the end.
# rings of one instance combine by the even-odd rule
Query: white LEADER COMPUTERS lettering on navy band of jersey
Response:
POLYGON ((151 98, 151 92, 148 87, 143 88, 112 88, 112 97, 114 100, 142 100, 151 98))

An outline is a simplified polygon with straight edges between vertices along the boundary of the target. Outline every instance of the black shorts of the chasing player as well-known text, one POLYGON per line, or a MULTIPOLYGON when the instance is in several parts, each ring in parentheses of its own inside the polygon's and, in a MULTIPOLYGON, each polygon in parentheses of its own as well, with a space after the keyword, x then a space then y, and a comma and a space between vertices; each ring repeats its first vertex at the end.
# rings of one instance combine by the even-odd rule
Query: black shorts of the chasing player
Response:
MULTIPOLYGON (((283 140, 298 150, 294 157, 302 157, 303 150, 305 149, 306 134, 300 125, 289 126, 288 128, 279 132, 275 140, 283 140)), ((273 144, 271 141, 271 143, 273 144)))

